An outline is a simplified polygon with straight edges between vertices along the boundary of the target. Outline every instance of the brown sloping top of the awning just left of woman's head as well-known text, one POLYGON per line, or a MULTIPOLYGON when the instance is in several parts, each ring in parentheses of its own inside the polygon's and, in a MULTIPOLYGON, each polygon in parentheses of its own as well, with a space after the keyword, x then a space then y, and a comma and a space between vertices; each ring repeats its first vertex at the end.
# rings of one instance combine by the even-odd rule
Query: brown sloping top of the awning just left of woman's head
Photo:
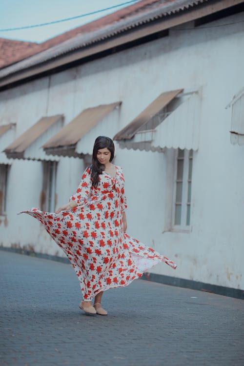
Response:
POLYGON ((83 110, 73 121, 66 124, 54 137, 48 140, 43 149, 67 147, 75 145, 82 136, 90 131, 108 113, 115 109, 121 102, 103 104, 83 110))

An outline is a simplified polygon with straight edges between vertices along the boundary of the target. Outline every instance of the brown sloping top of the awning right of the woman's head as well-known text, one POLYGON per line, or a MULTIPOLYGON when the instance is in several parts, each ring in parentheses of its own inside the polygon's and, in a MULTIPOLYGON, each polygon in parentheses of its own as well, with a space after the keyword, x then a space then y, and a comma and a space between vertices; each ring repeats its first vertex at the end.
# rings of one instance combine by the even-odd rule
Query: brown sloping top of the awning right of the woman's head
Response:
POLYGON ((169 102, 171 102, 183 89, 162 93, 151 102, 132 122, 127 124, 114 136, 115 141, 130 140, 147 122, 156 116, 169 102))

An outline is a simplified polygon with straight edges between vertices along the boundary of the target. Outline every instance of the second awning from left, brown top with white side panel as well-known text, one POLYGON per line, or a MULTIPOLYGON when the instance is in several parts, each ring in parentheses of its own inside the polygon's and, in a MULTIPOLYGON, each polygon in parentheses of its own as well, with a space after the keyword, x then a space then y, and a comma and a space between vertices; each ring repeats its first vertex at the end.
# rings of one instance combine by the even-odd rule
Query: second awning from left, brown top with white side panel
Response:
POLYGON ((63 115, 60 114, 42 117, 3 151, 12 159, 55 160, 46 156, 41 145, 61 128, 62 123, 63 115))

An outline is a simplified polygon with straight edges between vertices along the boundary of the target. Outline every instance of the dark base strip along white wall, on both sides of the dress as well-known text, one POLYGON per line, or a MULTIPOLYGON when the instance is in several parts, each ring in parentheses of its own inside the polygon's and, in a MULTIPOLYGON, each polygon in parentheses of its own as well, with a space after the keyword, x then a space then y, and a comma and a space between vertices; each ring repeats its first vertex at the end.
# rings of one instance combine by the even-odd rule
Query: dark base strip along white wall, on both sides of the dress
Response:
MULTIPOLYGON (((0 246, 0 249, 1 250, 6 250, 6 251, 9 251, 9 252, 29 255, 31 257, 49 259, 49 260, 52 260, 52 261, 57 261, 57 262, 70 264, 70 261, 68 260, 68 258, 62 258, 62 257, 59 257, 57 255, 35 253, 33 251, 30 251, 30 250, 19 249, 19 248, 8 248, 8 247, 5 247, 5 246, 0 246)), ((164 284, 164 285, 185 287, 185 288, 191 288, 193 290, 212 292, 214 294, 224 295, 224 296, 229 296, 229 297, 235 297, 237 299, 244 300, 244 290, 239 290, 237 288, 230 288, 230 287, 224 287, 224 286, 218 286, 218 285, 204 284, 203 282, 197 282, 197 281, 192 281, 192 280, 184 280, 183 278, 164 276, 164 275, 159 275, 159 274, 156 274, 156 273, 149 273, 149 272, 143 273, 141 279, 146 280, 146 281, 158 282, 158 283, 164 284)))

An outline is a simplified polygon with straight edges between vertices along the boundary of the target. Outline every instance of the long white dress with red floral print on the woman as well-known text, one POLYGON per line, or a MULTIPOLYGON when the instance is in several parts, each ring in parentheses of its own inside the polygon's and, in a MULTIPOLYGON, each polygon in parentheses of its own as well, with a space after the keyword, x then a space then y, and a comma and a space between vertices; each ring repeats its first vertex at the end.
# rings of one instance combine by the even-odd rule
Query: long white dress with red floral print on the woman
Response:
POLYGON ((105 172, 99 175, 98 187, 92 186, 88 167, 76 194, 70 198, 78 206, 70 211, 56 214, 32 208, 21 212, 38 219, 62 248, 75 269, 86 301, 100 291, 129 285, 160 262, 177 267, 124 233, 122 212, 127 207, 124 177, 122 168, 115 167, 115 177, 105 172))

